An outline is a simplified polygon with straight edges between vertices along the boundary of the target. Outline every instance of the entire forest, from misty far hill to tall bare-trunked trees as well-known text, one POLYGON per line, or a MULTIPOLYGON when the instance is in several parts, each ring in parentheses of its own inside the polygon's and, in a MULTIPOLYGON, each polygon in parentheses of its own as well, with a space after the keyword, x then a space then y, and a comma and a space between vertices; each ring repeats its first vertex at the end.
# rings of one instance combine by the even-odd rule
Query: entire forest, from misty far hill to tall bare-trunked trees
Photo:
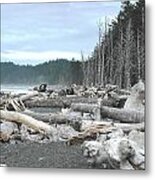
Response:
POLYGON ((1 63, 1 83, 73 83, 86 86, 115 84, 130 88, 145 82, 145 2, 122 2, 118 16, 98 22, 98 42, 91 56, 71 61, 57 59, 36 66, 1 63), (9 72, 9 73, 8 73, 9 72))

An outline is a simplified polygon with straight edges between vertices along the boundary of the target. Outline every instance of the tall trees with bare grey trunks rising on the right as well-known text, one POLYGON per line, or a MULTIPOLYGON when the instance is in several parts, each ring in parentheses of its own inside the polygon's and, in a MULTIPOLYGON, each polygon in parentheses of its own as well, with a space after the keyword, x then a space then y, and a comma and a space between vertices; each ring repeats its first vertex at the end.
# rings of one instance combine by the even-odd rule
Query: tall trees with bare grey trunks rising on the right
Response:
POLYGON ((145 81, 145 1, 124 1, 117 18, 98 23, 99 40, 92 55, 83 60, 83 83, 116 84, 129 88, 145 81))

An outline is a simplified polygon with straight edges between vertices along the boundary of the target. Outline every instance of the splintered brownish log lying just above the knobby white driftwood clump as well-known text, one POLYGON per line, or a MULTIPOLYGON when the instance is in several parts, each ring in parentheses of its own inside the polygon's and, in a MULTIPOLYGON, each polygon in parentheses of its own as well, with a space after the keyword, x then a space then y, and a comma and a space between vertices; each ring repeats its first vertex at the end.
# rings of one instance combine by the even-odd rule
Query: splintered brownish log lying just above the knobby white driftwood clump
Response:
MULTIPOLYGON (((129 124, 129 123, 110 123, 100 121, 82 121, 81 132, 77 136, 69 139, 68 145, 80 144, 86 140, 96 139, 99 134, 109 134, 113 131, 121 130, 122 133, 129 133, 132 130, 145 131, 144 123, 129 124)), ((114 134, 114 133, 113 133, 114 134)), ((116 135, 116 134, 115 134, 116 135)), ((114 136, 115 136, 114 135, 114 136)), ((117 138, 117 135, 116 135, 117 138)))

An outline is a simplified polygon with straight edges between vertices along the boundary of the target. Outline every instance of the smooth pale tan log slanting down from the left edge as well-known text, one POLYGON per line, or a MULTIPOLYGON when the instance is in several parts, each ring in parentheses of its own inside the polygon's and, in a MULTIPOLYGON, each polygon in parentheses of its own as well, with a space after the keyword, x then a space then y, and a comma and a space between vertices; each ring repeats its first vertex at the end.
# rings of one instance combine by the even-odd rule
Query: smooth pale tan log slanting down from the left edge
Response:
POLYGON ((0 118, 6 121, 25 124, 28 127, 35 129, 40 133, 51 134, 51 135, 56 133, 56 129, 54 127, 51 127, 50 125, 42 121, 38 121, 28 115, 21 114, 18 112, 0 110, 0 118))

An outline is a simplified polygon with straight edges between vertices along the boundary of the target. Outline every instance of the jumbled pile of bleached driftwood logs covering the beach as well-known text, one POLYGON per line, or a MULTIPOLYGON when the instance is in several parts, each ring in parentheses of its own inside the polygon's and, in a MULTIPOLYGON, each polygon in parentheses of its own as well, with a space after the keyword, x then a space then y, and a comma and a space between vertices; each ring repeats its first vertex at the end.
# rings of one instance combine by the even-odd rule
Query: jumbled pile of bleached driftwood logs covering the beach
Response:
POLYGON ((41 85, 25 95, 1 94, 2 142, 66 141, 79 144, 90 166, 144 169, 144 84, 131 91, 117 86, 73 85, 58 91, 41 85), (33 107, 55 108, 39 113, 33 107))

